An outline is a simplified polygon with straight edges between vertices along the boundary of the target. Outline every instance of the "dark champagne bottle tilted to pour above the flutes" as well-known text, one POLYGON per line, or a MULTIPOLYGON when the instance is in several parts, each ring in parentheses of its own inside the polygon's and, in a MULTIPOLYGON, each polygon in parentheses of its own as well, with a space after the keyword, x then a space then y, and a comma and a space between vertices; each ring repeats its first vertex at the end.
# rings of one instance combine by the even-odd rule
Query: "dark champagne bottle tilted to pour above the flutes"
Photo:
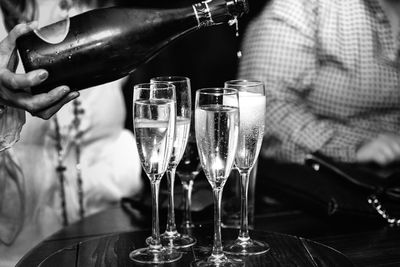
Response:
POLYGON ((47 43, 29 32, 17 39, 17 49, 25 71, 49 72, 47 80, 32 88, 33 94, 60 85, 80 90, 122 78, 171 41, 247 12, 247 0, 208 0, 172 9, 101 8, 70 18, 60 43, 47 43))

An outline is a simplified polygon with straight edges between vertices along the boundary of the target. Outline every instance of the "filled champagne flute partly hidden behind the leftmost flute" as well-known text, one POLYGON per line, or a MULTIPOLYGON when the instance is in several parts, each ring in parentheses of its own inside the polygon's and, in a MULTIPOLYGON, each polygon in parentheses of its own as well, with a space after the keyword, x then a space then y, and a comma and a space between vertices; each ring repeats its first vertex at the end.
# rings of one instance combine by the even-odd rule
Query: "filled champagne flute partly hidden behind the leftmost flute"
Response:
POLYGON ((189 235, 181 235, 176 229, 174 184, 176 167, 178 166, 186 148, 189 137, 191 118, 191 88, 190 80, 180 76, 162 76, 150 80, 151 83, 166 82, 175 86, 176 90, 176 129, 171 159, 167 168, 168 181, 168 218, 165 232, 161 235, 163 245, 175 248, 186 248, 193 246, 196 239, 189 235))

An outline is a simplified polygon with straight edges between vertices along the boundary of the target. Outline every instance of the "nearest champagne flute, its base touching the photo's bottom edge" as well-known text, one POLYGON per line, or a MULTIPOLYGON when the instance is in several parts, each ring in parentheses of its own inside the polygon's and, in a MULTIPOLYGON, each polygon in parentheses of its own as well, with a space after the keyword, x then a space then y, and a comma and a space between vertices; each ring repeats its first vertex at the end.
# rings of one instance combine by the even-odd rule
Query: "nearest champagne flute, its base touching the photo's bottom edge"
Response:
POLYGON ((196 92, 195 132, 203 171, 214 196, 214 244, 211 256, 192 266, 242 266, 228 259, 222 250, 222 191, 235 159, 239 134, 238 91, 205 88, 196 92))

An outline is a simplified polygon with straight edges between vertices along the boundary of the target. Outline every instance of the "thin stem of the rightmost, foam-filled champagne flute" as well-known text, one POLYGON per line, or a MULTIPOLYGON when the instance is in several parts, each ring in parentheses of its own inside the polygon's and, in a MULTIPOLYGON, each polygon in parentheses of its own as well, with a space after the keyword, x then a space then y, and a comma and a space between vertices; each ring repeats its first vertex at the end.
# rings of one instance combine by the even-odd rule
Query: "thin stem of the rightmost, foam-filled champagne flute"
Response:
POLYGON ((249 221, 248 221, 248 189, 249 189, 250 171, 240 171, 240 231, 239 239, 247 241, 249 237, 249 221))

